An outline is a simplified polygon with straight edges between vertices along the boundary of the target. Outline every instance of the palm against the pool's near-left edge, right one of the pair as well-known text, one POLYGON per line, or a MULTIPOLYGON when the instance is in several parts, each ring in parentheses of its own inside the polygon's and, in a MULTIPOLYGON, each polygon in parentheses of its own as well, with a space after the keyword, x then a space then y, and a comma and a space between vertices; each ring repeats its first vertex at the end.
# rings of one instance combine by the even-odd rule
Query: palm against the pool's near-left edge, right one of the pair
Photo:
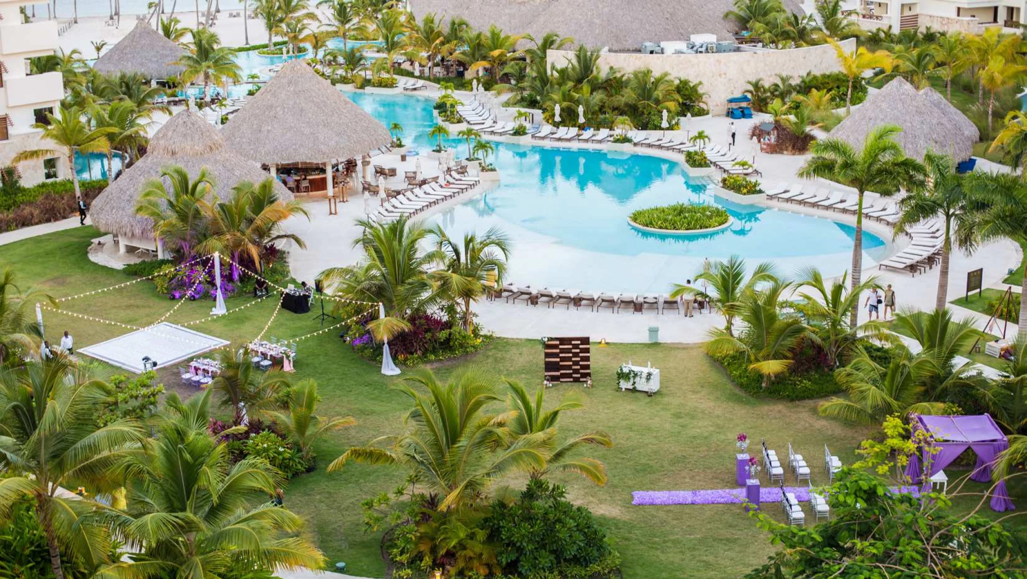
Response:
POLYGON ((439 264, 430 278, 439 288, 453 300, 462 303, 463 329, 471 331, 473 318, 470 306, 485 295, 489 287, 502 287, 506 277, 506 261, 510 255, 510 242, 496 227, 491 227, 481 237, 476 233, 465 233, 458 242, 435 226, 429 231, 434 252, 430 259, 439 264))

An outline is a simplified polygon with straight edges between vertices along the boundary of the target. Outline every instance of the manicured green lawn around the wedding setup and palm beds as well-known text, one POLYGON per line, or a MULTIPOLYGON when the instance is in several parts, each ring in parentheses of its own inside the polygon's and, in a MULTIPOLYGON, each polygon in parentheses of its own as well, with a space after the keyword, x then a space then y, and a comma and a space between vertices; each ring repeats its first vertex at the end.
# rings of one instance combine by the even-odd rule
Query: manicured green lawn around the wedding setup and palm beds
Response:
MULTIPOLYGON (((94 236, 96 231, 85 227, 3 245, 0 264, 12 265, 23 284, 34 284, 55 297, 130 279, 88 261, 85 247, 94 236)), ((245 298, 232 298, 228 307, 245 302, 245 298)), ((140 282, 62 305, 72 311, 142 324, 158 318, 175 303, 158 296, 149 282, 140 282)), ((186 303, 169 319, 203 317, 210 307, 206 301, 186 303)), ((260 332, 272 310, 268 300, 201 324, 198 330, 242 341, 260 332)), ((312 317, 312 313, 282 311, 268 335, 290 338, 312 332, 318 329, 312 317)), ((54 313, 48 313, 46 319, 51 341, 68 329, 79 347, 123 332, 54 313)), ((573 330, 568 333, 573 334, 573 330)), ((480 364, 534 385, 541 380, 541 356, 537 341, 496 340, 488 350, 435 372, 448 376, 463 364, 480 364)), ((824 445, 829 445, 843 463, 850 464, 854 460, 852 450, 872 431, 819 417, 815 401, 754 399, 735 388, 696 346, 595 347, 593 363, 595 388, 557 386, 547 396, 549 403, 556 403, 567 392, 583 394, 585 408, 566 415, 561 428, 567 433, 602 429, 612 436, 614 448, 592 453, 606 462, 609 484, 596 488, 572 475, 555 478, 567 485, 573 501, 586 505, 600 517, 623 556, 623 574, 630 579, 739 577, 772 551, 766 536, 740 506, 633 506, 633 491, 733 488, 734 438, 738 432, 750 435, 752 450, 759 448, 760 438, 766 438, 768 446, 783 455, 791 441, 809 462, 813 484, 826 484, 824 445), (636 363, 649 361, 661 370, 661 389, 655 396, 616 390, 616 366, 629 359, 636 363)), ((402 431, 408 404, 391 386, 403 377, 381 376, 375 365, 353 355, 334 333, 301 342, 296 368, 297 377, 318 381, 322 397, 319 414, 352 415, 358 424, 332 433, 316 446, 321 469, 295 478, 287 489, 286 503, 306 517, 305 533, 326 552, 330 564, 345 561, 354 575, 382 577, 381 536, 365 533, 359 503, 392 491, 404 472, 389 467, 347 465, 329 474, 324 466, 348 446, 402 431)), ((177 378, 166 372, 162 376, 165 381, 177 378)), ((517 490, 524 481, 518 476, 498 485, 517 490)), ((789 476, 787 483, 794 485, 795 480, 789 476)), ((776 504, 765 507, 772 515, 779 515, 776 504)))

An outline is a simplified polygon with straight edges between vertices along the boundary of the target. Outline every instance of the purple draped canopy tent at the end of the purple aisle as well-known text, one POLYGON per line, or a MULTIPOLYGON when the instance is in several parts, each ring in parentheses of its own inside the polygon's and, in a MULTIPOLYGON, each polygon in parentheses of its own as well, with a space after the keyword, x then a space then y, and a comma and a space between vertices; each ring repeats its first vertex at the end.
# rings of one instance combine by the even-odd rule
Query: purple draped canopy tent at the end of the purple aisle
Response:
MULTIPOLYGON (((1010 448, 1005 434, 998 429, 991 415, 977 416, 926 416, 913 415, 913 428, 930 434, 933 446, 938 450, 922 450, 922 459, 916 455, 910 457, 906 474, 914 481, 923 480, 922 492, 930 492, 929 478, 952 463, 967 448, 977 453, 977 464, 969 477, 972 480, 988 483, 991 480, 991 465, 999 453, 1010 448), (926 473, 922 465, 927 465, 926 473)), ((995 486, 991 498, 991 509, 997 511, 1013 510, 1016 506, 1005 490, 1005 481, 995 486)))

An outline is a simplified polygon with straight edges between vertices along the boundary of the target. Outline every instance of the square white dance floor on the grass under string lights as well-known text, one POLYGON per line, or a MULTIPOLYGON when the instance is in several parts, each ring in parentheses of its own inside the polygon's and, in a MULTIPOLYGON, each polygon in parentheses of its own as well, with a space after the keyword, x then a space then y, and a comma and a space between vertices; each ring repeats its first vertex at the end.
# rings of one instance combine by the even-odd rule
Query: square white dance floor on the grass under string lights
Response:
POLYGON ((220 338, 163 321, 152 327, 86 346, 76 353, 142 374, 143 356, 155 360, 156 368, 163 368, 226 345, 228 342, 220 338))

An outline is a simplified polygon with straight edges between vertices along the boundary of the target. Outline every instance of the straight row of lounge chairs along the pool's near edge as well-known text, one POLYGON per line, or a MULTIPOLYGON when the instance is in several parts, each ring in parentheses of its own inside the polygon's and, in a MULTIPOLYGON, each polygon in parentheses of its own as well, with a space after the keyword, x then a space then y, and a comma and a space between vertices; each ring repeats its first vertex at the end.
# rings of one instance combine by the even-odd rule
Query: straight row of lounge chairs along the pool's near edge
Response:
MULTIPOLYGON (((499 288, 493 298, 502 298, 507 303, 518 303, 523 300, 525 304, 537 306, 545 304, 547 308, 564 306, 575 310, 588 308, 594 312, 599 312, 608 308, 610 313, 619 313, 621 309, 626 309, 632 313, 645 314, 652 311, 656 314, 665 314, 668 310, 673 310, 675 314, 684 313, 682 302, 679 298, 671 298, 667 294, 603 294, 579 292, 577 290, 541 290, 533 288, 530 285, 517 285, 507 283, 499 288)), ((696 309, 701 313, 706 307, 706 301, 699 301, 696 309)))

